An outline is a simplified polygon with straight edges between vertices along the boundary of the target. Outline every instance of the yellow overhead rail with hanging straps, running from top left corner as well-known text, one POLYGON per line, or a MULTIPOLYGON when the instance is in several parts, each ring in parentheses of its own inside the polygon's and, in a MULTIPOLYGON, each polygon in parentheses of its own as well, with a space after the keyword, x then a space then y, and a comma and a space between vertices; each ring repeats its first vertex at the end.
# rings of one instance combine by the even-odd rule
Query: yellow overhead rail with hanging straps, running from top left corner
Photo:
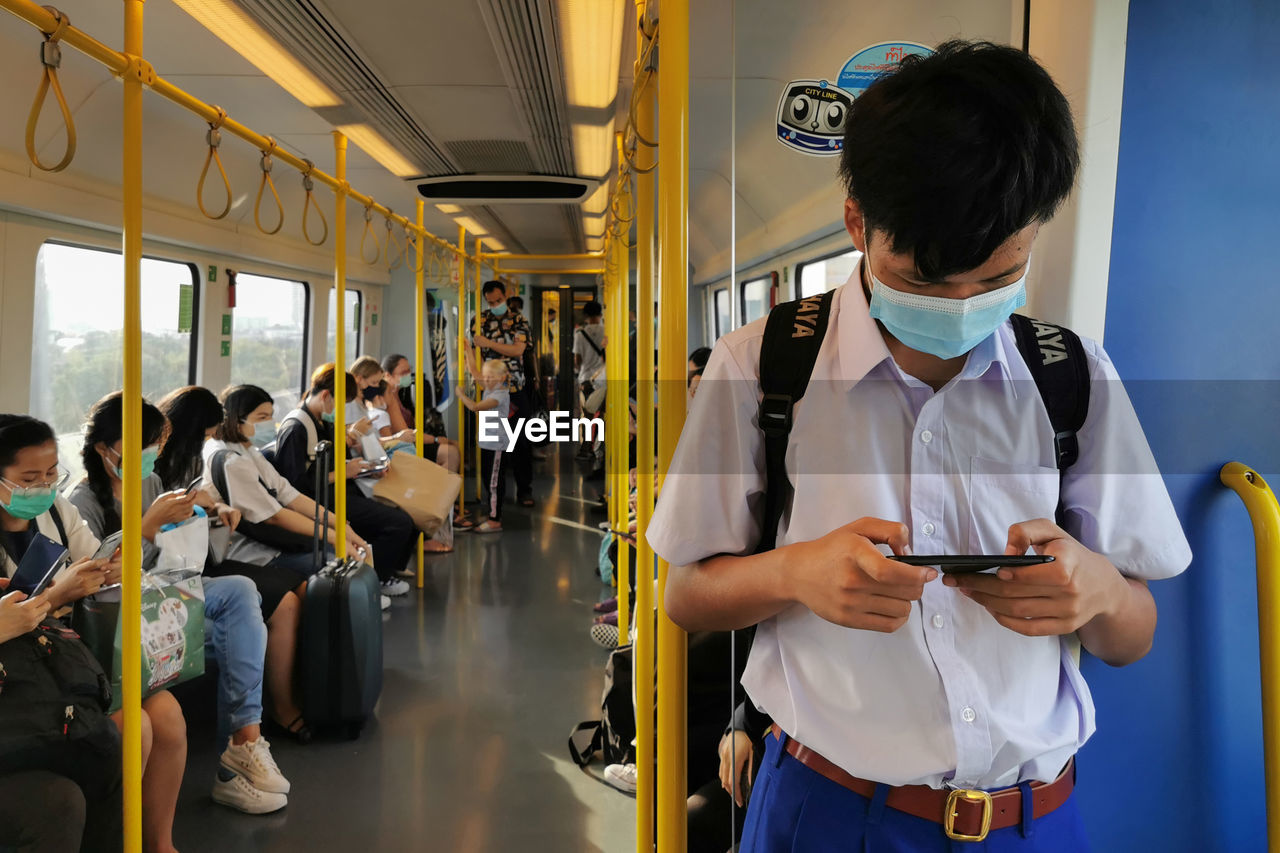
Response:
MULTIPOLYGON (((51 33, 58 26, 58 22, 52 14, 50 14, 44 6, 40 6, 32 3, 31 0, 0 0, 0 8, 13 13, 18 18, 22 18, 23 20, 33 26, 36 29, 40 29, 45 35, 51 33)), ((118 77, 128 72, 132 65, 127 55, 111 50, 102 42, 88 36, 84 31, 77 29, 76 27, 67 27, 65 32, 63 33, 61 41, 79 50, 90 59, 95 59, 101 64, 106 65, 118 77)), ((191 95, 189 92, 164 79, 163 77, 156 74, 154 69, 151 69, 151 67, 146 64, 145 60, 140 60, 138 74, 142 78, 142 83, 150 87, 151 91, 160 95, 161 97, 173 101, 178 106, 182 106, 183 109, 191 113, 195 113, 206 122, 218 120, 220 113, 216 106, 206 104, 195 95, 191 95)), ((266 151, 270 149, 271 156, 275 160, 279 160, 280 163, 287 163, 288 165, 297 169, 300 173, 306 172, 308 169, 306 160, 293 154, 289 154, 288 151, 280 147, 274 147, 278 143, 273 143, 270 138, 262 136, 261 133, 257 133, 256 131, 246 127, 244 124, 241 124, 239 122, 237 122, 230 117, 227 117, 224 119, 221 127, 232 136, 238 136, 239 138, 244 140, 246 142, 259 149, 260 151, 266 151)), ((342 182, 338 178, 326 174, 320 169, 311 168, 311 177, 312 179, 328 186, 330 190, 335 192, 343 191, 342 182)), ((360 204, 361 206, 371 207, 380 216, 390 219, 392 222, 399 224, 402 228, 407 229, 410 233, 429 240, 440 248, 453 252, 454 255, 463 255, 470 261, 477 260, 474 255, 465 255, 465 252, 461 252, 457 248, 457 246, 454 246, 447 240, 436 237, 435 234, 420 227, 416 222, 408 219, 407 216, 402 216, 401 214, 392 211, 390 207, 388 207, 387 205, 378 204, 376 201, 374 201, 372 196, 366 196, 365 193, 353 190, 351 187, 346 187, 346 192, 352 201, 360 204)))

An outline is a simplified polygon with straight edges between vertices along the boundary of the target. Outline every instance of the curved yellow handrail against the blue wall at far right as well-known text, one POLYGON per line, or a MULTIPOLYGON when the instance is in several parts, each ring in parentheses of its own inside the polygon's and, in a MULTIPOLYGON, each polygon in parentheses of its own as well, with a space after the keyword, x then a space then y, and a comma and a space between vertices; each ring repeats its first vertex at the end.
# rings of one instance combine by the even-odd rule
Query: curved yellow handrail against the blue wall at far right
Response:
POLYGON ((1262 754, 1268 849, 1280 848, 1280 503, 1262 475, 1228 462, 1219 476, 1244 501, 1258 564, 1258 644, 1262 657, 1262 754))

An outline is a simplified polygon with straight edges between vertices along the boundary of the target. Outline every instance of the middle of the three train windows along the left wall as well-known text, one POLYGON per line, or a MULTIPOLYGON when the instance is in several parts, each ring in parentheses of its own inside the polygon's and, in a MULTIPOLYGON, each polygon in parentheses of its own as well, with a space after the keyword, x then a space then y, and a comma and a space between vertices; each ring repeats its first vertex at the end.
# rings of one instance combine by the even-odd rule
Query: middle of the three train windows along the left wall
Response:
POLYGON ((306 384, 310 293, 303 282, 241 273, 232 311, 232 384, 275 400, 275 416, 298 405, 306 384))

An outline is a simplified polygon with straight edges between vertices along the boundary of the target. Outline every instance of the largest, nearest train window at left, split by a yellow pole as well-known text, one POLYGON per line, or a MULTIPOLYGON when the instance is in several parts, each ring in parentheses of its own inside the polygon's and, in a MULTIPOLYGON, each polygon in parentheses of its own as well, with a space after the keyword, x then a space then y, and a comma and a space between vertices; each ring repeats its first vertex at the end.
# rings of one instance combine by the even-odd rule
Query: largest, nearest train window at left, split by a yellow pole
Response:
MULTIPOLYGON (((142 393, 148 400, 195 382, 198 310, 195 265, 142 259, 142 393)), ((67 439, 59 456, 77 467, 84 415, 124 382, 120 252, 41 246, 32 315, 31 414, 54 428, 59 444, 67 439)))

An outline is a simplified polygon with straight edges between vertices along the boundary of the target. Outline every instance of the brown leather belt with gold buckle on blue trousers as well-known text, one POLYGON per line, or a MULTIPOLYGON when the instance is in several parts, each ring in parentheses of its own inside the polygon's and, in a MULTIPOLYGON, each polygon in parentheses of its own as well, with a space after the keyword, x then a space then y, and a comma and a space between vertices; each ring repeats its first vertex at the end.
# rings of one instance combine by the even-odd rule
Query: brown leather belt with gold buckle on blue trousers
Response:
MULTIPOLYGON (((774 724, 773 736, 786 740, 787 753, 801 765, 831 781, 868 799, 876 795, 876 783, 858 779, 831 763, 813 749, 782 734, 774 724)), ((1075 786, 1075 758, 1051 783, 1032 783, 1032 815, 1048 815, 1066 802, 1075 786)), ((1018 826, 1023 821, 1023 792, 1019 788, 987 793, 968 789, 937 789, 928 785, 890 788, 884 804, 900 812, 942 824, 947 838, 959 841, 980 841, 991 830, 1018 826)))

